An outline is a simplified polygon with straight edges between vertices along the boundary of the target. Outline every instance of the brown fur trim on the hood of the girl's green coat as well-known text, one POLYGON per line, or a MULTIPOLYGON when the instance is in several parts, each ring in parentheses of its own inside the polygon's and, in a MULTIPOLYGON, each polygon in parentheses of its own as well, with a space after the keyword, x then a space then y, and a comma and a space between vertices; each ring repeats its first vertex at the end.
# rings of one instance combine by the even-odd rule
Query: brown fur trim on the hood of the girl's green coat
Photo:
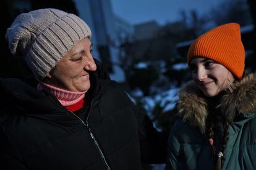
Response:
MULTIPOLYGON (((205 132, 205 122, 208 116, 208 104, 203 93, 193 81, 182 87, 177 101, 179 115, 192 126, 205 132)), ((256 110, 256 75, 250 74, 236 81, 226 89, 218 108, 233 121, 237 113, 247 114, 256 110)))

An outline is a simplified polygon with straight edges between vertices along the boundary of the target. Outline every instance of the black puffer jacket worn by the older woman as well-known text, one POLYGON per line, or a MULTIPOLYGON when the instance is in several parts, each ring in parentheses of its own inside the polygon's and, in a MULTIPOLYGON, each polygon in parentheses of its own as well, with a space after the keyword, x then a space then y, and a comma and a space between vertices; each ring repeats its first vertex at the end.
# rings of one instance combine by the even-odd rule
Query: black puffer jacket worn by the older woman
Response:
POLYGON ((164 162, 168 132, 156 132, 116 83, 99 77, 108 76, 91 75, 80 117, 49 93, 1 79, 0 169, 142 169, 141 162, 164 162))

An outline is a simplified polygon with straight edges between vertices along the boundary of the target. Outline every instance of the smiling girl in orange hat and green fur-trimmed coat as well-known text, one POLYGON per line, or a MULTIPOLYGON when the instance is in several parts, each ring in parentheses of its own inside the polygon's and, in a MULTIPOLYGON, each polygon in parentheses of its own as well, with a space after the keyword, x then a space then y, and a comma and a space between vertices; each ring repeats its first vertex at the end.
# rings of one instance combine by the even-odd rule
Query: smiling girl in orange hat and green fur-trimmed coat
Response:
POLYGON ((237 23, 192 43, 193 81, 179 95, 166 169, 256 169, 256 78, 244 75, 244 60, 237 23))

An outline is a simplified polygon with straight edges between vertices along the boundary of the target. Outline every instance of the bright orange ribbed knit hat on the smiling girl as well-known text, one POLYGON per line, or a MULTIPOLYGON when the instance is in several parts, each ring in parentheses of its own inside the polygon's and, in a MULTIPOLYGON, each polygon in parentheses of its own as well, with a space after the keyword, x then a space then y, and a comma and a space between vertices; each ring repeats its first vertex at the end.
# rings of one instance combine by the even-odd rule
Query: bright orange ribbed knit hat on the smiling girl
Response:
POLYGON ((245 51, 241 41, 240 25, 228 23, 217 26, 195 39, 189 47, 187 62, 205 57, 226 67, 237 78, 244 72, 245 51))

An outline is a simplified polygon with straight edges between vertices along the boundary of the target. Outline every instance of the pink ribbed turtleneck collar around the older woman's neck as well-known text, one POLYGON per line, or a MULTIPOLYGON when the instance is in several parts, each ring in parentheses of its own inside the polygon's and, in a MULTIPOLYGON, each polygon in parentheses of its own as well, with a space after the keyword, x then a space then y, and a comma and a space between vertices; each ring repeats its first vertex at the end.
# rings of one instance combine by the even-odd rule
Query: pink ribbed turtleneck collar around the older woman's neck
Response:
POLYGON ((38 83, 37 89, 40 91, 50 92, 59 100, 59 102, 64 107, 78 103, 80 100, 82 100, 85 97, 85 93, 87 92, 87 91, 84 91, 84 92, 67 91, 43 82, 38 83))

